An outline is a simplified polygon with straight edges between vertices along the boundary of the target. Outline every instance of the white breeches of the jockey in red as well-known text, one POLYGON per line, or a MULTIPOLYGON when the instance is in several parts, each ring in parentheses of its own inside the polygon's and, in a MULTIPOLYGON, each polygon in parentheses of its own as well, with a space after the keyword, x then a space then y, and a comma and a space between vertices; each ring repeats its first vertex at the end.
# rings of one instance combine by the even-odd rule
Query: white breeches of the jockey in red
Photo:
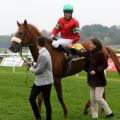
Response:
POLYGON ((64 39, 59 38, 58 40, 53 40, 52 46, 54 48, 58 48, 59 45, 63 45, 64 47, 67 47, 72 44, 72 39, 64 39))

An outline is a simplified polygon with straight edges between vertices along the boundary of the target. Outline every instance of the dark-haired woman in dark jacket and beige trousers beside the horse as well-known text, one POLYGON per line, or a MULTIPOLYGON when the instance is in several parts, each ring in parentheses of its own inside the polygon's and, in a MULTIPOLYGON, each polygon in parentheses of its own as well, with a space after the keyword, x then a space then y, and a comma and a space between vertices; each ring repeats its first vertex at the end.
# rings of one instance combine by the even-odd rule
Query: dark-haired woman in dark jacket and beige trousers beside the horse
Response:
POLYGON ((90 86, 90 102, 92 118, 98 118, 98 107, 97 103, 104 109, 106 118, 113 117, 114 114, 107 102, 103 98, 104 89, 106 86, 106 77, 104 70, 107 68, 107 59, 102 52, 102 44, 98 39, 91 39, 89 45, 90 53, 83 53, 82 56, 90 55, 90 60, 86 66, 88 85, 90 86))

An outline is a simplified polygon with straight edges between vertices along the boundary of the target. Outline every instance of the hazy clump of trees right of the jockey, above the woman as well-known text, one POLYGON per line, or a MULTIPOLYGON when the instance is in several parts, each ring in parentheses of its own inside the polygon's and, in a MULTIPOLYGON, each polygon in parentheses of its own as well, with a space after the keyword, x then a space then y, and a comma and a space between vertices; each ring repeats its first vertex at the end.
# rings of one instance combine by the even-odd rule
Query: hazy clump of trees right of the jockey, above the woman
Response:
POLYGON ((120 44, 120 27, 106 27, 99 24, 85 25, 81 28, 81 40, 86 38, 99 38, 103 43, 109 45, 120 44))

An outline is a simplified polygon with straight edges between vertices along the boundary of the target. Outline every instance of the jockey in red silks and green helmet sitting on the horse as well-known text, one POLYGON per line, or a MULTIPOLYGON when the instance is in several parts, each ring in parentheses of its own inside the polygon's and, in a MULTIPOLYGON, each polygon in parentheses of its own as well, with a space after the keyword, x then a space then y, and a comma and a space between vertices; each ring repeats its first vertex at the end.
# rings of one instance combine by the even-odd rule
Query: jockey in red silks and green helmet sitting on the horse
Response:
POLYGON ((73 6, 64 5, 64 17, 61 17, 51 33, 52 46, 69 54, 67 48, 71 48, 74 43, 80 40, 79 22, 72 17, 73 6), (54 40, 60 32, 61 37, 54 40))

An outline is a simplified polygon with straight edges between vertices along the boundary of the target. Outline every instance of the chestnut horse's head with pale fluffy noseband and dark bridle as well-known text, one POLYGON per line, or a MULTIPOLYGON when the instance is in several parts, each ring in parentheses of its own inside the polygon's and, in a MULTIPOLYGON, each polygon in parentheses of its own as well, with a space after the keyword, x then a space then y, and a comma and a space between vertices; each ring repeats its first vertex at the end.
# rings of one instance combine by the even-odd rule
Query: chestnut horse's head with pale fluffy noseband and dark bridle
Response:
POLYGON ((17 21, 17 25, 18 30, 15 36, 11 38, 11 46, 9 48, 12 52, 19 52, 22 47, 35 44, 35 41, 32 41, 33 33, 31 32, 31 26, 27 21, 24 20, 22 24, 17 21))

